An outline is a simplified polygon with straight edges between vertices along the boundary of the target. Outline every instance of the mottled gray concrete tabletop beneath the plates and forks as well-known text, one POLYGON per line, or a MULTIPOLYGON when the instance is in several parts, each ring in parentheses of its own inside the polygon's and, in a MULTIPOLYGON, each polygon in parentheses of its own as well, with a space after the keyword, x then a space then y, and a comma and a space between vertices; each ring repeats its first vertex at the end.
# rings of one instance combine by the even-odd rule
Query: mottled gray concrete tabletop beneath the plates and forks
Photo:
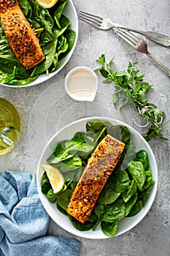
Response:
MULTIPOLYGON (((169 0, 74 0, 74 5, 77 11, 98 13, 136 29, 170 35, 169 0)), ((150 52, 170 67, 170 49, 149 40, 147 42, 150 52)), ((47 140, 77 118, 109 116, 131 124, 130 113, 120 113, 112 105, 114 88, 104 85, 100 75, 94 102, 74 102, 66 95, 63 81, 67 72, 76 66, 98 67, 96 59, 101 53, 108 60, 115 56, 115 68, 119 70, 125 69, 129 61, 138 61, 137 67, 145 75, 145 80, 155 85, 148 99, 164 111, 165 121, 170 118, 170 78, 166 72, 147 56, 128 46, 114 31, 100 31, 80 21, 77 47, 58 75, 38 86, 17 89, 0 87, 0 96, 9 99, 18 108, 22 121, 18 145, 9 154, 0 157, 1 173, 8 169, 36 174, 37 162, 47 140)), ((164 127, 163 133, 170 138, 169 125, 164 127)), ((51 220, 48 234, 79 239, 82 242, 80 256, 169 256, 170 144, 163 140, 152 140, 149 144, 158 163, 158 192, 152 208, 139 225, 115 238, 90 240, 73 236, 51 220)))

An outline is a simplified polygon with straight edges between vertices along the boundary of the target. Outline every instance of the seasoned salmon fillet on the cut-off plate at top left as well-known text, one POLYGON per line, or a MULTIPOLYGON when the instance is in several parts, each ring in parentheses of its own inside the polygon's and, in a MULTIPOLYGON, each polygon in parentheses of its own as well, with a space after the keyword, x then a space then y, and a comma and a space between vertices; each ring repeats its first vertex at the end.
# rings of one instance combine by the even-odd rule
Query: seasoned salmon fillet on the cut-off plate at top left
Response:
POLYGON ((45 56, 31 25, 20 10, 18 0, 0 0, 1 26, 20 64, 31 69, 45 56))

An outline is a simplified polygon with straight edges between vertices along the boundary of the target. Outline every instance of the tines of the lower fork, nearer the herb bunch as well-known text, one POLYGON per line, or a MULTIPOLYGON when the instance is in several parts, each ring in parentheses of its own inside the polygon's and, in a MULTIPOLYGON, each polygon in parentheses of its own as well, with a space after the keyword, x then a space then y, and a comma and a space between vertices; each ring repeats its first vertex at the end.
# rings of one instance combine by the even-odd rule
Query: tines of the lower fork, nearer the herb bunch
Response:
POLYGON ((127 31, 125 29, 117 29, 116 34, 123 38, 126 42, 129 43, 132 47, 136 48, 137 44, 142 42, 142 38, 138 37, 134 32, 127 31))

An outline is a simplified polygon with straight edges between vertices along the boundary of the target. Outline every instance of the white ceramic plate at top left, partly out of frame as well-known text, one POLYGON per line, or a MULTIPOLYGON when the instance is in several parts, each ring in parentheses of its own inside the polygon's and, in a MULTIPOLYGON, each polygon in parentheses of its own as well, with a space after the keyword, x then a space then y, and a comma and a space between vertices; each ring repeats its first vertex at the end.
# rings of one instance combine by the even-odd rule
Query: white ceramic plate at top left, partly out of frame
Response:
POLYGON ((71 26, 69 27, 69 29, 72 29, 72 30, 74 30, 76 32, 76 38, 75 38, 75 42, 74 42, 74 45, 72 47, 72 50, 69 52, 69 54, 67 54, 67 56, 65 56, 63 59, 61 59, 58 62, 58 68, 55 70, 55 72, 50 73, 49 75, 46 75, 46 74, 39 75, 39 78, 37 78, 32 83, 29 83, 29 84, 27 84, 25 86, 12 86, 12 85, 4 84, 4 83, 1 83, 1 86, 17 87, 17 88, 28 87, 28 86, 35 86, 36 84, 45 82, 46 80, 52 78, 59 71, 61 71, 61 69, 66 65, 66 63, 71 58, 72 53, 74 52, 74 48, 75 48, 75 46, 77 44, 78 18, 77 18, 77 12, 75 10, 75 7, 74 7, 74 4, 73 4, 72 0, 69 0, 68 3, 66 4, 66 7, 63 10, 63 14, 66 15, 66 17, 69 18, 69 20, 71 21, 71 26))

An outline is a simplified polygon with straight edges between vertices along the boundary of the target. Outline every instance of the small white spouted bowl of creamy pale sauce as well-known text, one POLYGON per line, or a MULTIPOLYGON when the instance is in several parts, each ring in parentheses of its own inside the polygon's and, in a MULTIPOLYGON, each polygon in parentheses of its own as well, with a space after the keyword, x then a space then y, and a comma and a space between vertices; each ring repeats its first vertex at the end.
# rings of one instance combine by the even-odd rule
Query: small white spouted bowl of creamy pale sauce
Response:
POLYGON ((78 101, 93 101, 98 89, 98 78, 88 67, 72 69, 65 80, 66 92, 78 101))

